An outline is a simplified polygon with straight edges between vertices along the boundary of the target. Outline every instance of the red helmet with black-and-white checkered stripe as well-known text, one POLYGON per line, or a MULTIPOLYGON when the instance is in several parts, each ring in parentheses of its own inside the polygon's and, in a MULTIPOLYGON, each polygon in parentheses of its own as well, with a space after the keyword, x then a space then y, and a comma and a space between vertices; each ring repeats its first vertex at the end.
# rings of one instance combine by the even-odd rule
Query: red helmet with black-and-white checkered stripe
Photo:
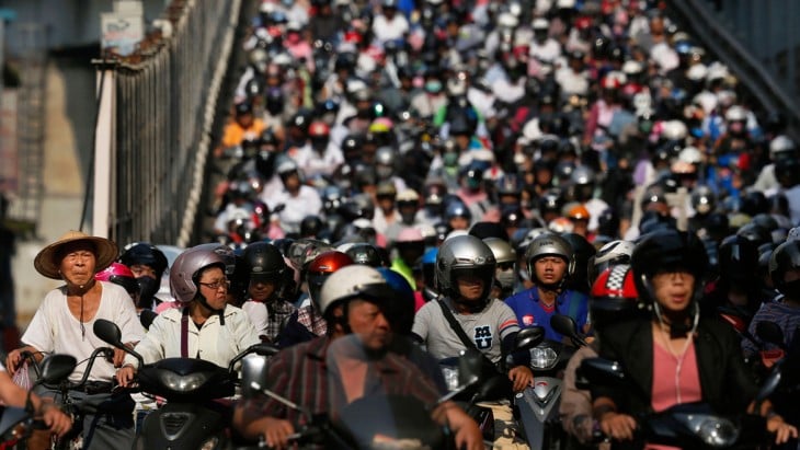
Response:
POLYGON ((592 284, 588 309, 595 327, 616 322, 627 312, 637 310, 639 293, 633 270, 627 264, 616 264, 599 273, 592 284))

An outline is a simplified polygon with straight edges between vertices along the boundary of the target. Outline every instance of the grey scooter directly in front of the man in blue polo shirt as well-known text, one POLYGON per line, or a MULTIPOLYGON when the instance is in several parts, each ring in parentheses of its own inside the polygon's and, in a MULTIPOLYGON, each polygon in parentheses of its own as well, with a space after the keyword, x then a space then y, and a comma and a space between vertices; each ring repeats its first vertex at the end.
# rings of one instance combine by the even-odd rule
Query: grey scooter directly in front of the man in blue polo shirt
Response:
MULTIPOLYGON (((578 336, 572 318, 555 314, 550 326, 570 337, 574 347, 586 345, 578 336)), ((574 347, 545 339, 530 350, 534 386, 517 393, 514 406, 528 445, 534 450, 563 448, 567 443, 558 413, 562 391, 560 372, 567 367, 574 347)))

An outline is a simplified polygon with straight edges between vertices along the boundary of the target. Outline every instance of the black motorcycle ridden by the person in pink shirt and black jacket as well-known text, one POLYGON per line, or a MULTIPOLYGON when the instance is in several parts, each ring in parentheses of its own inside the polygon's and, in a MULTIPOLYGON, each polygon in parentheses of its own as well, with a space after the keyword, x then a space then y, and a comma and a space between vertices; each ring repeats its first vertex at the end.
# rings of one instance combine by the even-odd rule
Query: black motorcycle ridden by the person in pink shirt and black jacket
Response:
MULTIPOLYGON (((625 383, 628 376, 621 365, 604 358, 586 358, 579 377, 588 383, 625 383)), ((778 386, 779 367, 767 377, 756 395, 756 409, 778 386)), ((635 417, 639 426, 635 445, 676 446, 684 449, 754 449, 768 442, 764 417, 752 414, 721 415, 707 403, 683 403, 667 409, 635 417)), ((639 447, 641 448, 641 447, 639 447)))

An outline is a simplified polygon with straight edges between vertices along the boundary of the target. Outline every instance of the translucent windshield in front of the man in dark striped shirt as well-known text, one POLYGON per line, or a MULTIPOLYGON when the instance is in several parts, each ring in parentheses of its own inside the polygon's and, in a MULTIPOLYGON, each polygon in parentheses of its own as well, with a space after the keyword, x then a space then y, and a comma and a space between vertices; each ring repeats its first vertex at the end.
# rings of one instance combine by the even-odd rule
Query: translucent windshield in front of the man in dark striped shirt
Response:
POLYGON ((408 359, 353 334, 331 344, 325 362, 330 418, 348 447, 442 448, 443 427, 432 419, 437 390, 408 359))

